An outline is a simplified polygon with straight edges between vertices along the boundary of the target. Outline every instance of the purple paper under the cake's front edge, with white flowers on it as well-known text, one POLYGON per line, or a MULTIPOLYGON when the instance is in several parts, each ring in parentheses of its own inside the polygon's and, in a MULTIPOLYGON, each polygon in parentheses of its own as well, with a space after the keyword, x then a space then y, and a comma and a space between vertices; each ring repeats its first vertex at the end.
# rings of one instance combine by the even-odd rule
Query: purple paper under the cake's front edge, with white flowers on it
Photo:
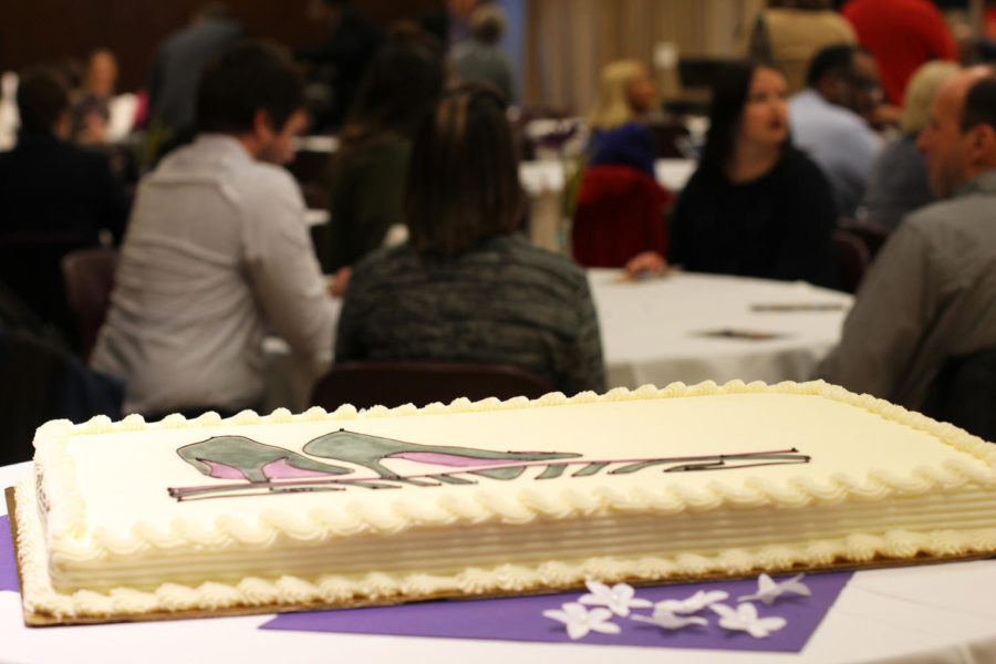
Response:
MULTIPOLYGON (((772 632, 766 639, 754 639, 746 632, 724 630, 718 624, 718 616, 709 609, 705 609, 696 615, 708 620, 707 626, 693 625, 668 632, 655 625, 613 616, 612 621, 622 627, 621 634, 590 632, 587 636, 572 642, 567 635, 564 625, 544 618, 542 612, 560 609, 561 604, 567 602, 577 602, 583 592, 284 613, 264 623, 261 629, 797 653, 809 641, 850 578, 851 572, 808 575, 803 579, 803 583, 812 591, 811 596, 782 596, 770 606, 754 602, 759 616, 779 615, 788 621, 785 629, 772 632)), ((637 588, 636 596, 652 602, 684 600, 698 590, 725 590, 729 593, 729 599, 725 600, 725 603, 736 606, 738 596, 757 591, 757 579, 637 588)), ((652 609, 635 609, 633 613, 650 615, 652 609)))

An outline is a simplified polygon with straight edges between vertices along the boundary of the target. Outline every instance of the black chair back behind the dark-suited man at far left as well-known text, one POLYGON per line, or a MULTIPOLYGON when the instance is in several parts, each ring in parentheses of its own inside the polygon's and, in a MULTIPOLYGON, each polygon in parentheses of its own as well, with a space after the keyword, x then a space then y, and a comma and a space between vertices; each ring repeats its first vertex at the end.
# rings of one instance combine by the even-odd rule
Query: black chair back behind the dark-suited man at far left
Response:
POLYGON ((70 251, 93 246, 77 234, 17 234, 0 237, 0 282, 75 345, 79 336, 70 312, 60 264, 70 251))

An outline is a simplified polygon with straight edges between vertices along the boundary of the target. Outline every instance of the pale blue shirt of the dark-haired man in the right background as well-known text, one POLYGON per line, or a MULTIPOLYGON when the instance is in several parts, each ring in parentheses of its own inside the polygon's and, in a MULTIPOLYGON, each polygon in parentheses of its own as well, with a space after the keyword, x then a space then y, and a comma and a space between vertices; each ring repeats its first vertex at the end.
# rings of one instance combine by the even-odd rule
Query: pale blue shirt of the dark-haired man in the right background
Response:
POLYGON ((879 137, 860 115, 811 87, 789 100, 789 121, 796 147, 809 153, 833 185, 838 211, 853 218, 879 153, 879 137))

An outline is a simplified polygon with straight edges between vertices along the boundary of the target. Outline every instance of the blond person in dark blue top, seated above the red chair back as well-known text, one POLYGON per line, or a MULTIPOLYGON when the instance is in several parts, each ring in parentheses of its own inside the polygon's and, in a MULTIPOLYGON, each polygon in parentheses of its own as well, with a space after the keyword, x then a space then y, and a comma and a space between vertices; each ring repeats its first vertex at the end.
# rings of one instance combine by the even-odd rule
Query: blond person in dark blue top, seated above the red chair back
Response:
POLYGON ((602 69, 595 106, 588 116, 589 166, 632 166, 654 175, 654 136, 641 123, 654 104, 654 84, 635 60, 619 60, 602 69))

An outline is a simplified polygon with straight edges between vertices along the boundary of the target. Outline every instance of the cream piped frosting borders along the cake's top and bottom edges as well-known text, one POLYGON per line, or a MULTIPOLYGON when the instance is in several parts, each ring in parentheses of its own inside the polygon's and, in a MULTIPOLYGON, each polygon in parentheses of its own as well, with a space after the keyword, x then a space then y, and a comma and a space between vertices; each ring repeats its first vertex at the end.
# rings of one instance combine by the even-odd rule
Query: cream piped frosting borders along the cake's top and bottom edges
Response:
MULTIPOLYGON (((912 413, 886 401, 869 395, 858 395, 821 381, 810 383, 785 382, 766 385, 761 382, 745 384, 733 381, 723 386, 705 382, 694 386, 673 383, 664 388, 645 385, 635 391, 612 390, 604 395, 591 392, 566 397, 551 393, 539 400, 517 397, 501 402, 497 398, 471 403, 466 398, 452 404, 430 404, 424 408, 412 405, 398 408, 375 407, 357 413, 352 406, 342 406, 334 413, 314 407, 305 413, 292 415, 287 409, 278 409, 268 416, 251 411, 222 421, 216 413, 206 413, 193 421, 181 415, 170 415, 158 423, 145 423, 133 415, 114 423, 107 417, 95 417, 87 423, 73 425, 66 421, 45 424, 37 436, 39 454, 37 470, 39 481, 45 487, 45 496, 52 504, 48 512, 51 538, 49 549, 73 558, 100 559, 111 553, 124 553, 142 547, 172 548, 176 546, 210 546, 224 550, 261 541, 276 533, 299 539, 308 532, 308 539, 331 538, 360 532, 397 532, 417 525, 454 523, 463 521, 516 522, 535 518, 571 518, 592 511, 644 511, 670 516, 683 510, 708 511, 724 506, 753 507, 760 504, 780 507, 801 507, 819 502, 837 502, 848 497, 858 499, 888 496, 915 496, 935 489, 950 490, 966 484, 984 488, 996 487, 996 448, 950 424, 935 422, 919 413, 912 413), (723 394, 801 394, 817 395, 863 408, 886 419, 924 430, 953 448, 966 453, 987 466, 981 471, 969 464, 951 463, 943 468, 917 468, 913 477, 899 478, 888 469, 872 469, 869 480, 859 483, 850 478, 836 477, 826 486, 813 483, 791 483, 797 490, 786 492, 775 490, 764 483, 753 483, 750 491, 725 491, 722 485, 710 486, 710 496, 683 496, 673 490, 661 495, 642 494, 620 496, 611 491, 595 490, 589 496, 569 496, 568 504, 546 506, 530 499, 523 491, 513 504, 509 501, 474 500, 466 504, 443 504, 440 509, 429 513, 397 513, 391 523, 383 519, 367 518, 362 510, 344 510, 344 513, 312 513, 310 523, 301 518, 279 512, 268 516, 260 526, 245 523, 217 523, 216 532, 156 532, 147 525, 138 525, 131 538, 114 541, 97 540, 84 542, 85 504, 75 483, 73 460, 65 450, 72 436, 114 432, 139 432, 183 427, 212 427, 221 424, 253 425, 297 422, 335 422, 354 418, 398 417, 423 414, 473 413, 527 407, 548 407, 584 403, 618 402, 630 400, 676 398, 723 394), (317 518, 315 518, 317 517, 317 518), (400 520, 400 521, 398 521, 400 520), (302 529, 303 527, 303 529, 302 529), (260 531, 264 529, 266 532, 260 531), (295 536, 295 533, 298 533, 295 536), (177 537, 180 541, 177 541, 177 537)), ((350 579, 326 574, 311 582, 293 577, 271 581, 247 578, 237 584, 206 582, 197 588, 166 583, 154 592, 120 588, 108 593, 77 591, 72 594, 56 592, 51 584, 46 569, 44 536, 30 532, 25 526, 31 521, 29 506, 35 505, 34 484, 27 478, 17 489, 19 522, 19 557, 24 577, 24 603, 31 611, 56 616, 100 616, 121 613, 146 613, 153 611, 180 611, 193 609, 224 609, 232 606, 259 606, 288 603, 342 603, 356 601, 378 601, 385 598, 406 600, 438 596, 459 592, 478 594, 495 591, 527 591, 540 588, 563 588, 575 585, 585 578, 603 580, 653 580, 675 575, 707 573, 747 573, 757 569, 788 569, 795 566, 820 567, 834 560, 868 561, 876 556, 909 558, 919 552, 932 556, 964 556, 996 549, 996 528, 952 531, 943 537, 927 537, 920 533, 893 531, 882 537, 854 535, 833 541, 812 541, 800 547, 771 547, 759 551, 729 550, 714 557, 678 556, 668 558, 640 558, 636 560, 593 558, 580 564, 548 562, 535 568, 501 566, 490 570, 468 569, 453 577, 432 574, 367 574, 363 579, 350 579), (22 513, 23 512, 23 513, 22 513)))

